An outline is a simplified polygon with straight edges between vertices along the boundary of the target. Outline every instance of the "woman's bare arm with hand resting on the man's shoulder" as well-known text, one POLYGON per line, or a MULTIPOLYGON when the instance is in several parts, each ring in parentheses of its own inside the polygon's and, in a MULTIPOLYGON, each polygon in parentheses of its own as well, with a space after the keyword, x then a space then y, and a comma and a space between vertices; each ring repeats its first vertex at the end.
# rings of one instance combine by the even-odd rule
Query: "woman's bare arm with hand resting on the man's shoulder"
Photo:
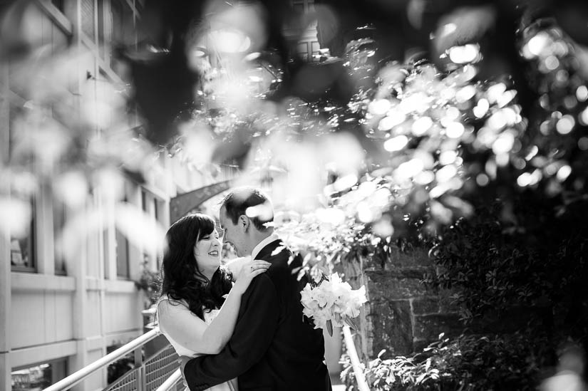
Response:
POLYGON ((250 261, 244 265, 237 275, 237 282, 210 325, 192 314, 186 306, 163 300, 158 305, 160 327, 175 342, 195 353, 219 353, 231 338, 237 323, 242 294, 252 278, 266 271, 269 265, 265 261, 250 261))

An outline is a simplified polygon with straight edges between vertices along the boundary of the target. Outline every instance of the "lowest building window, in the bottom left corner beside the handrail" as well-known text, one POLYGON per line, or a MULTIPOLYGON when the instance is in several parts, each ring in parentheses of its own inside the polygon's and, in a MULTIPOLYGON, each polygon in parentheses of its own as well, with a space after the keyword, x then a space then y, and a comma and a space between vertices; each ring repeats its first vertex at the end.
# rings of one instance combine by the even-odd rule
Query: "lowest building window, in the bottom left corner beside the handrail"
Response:
POLYGON ((11 372, 12 391, 43 390, 66 375, 66 358, 16 369, 11 372))

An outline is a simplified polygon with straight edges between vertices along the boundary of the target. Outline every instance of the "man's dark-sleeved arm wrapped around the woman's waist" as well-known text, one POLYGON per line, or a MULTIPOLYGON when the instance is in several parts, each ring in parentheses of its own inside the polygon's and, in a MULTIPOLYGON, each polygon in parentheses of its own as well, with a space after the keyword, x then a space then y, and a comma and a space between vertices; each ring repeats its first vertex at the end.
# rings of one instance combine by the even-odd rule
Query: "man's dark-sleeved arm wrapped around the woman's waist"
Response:
POLYGON ((252 281, 244 293, 237 325, 217 355, 192 358, 184 368, 191 391, 206 390, 246 372, 272 343, 279 318, 276 287, 267 275, 252 281))

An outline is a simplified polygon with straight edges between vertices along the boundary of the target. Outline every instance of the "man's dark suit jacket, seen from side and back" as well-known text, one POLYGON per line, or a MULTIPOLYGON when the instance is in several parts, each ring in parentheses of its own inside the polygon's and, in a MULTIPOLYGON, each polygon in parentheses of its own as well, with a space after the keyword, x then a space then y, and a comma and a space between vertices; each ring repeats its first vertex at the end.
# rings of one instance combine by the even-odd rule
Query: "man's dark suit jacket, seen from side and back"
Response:
MULTIPOLYGON (((217 355, 192 358, 184 368, 190 391, 239 378, 239 391, 330 391, 322 330, 302 316, 292 252, 282 241, 256 256, 272 264, 252 281, 241 299, 234 333, 217 355)), ((298 261, 299 263, 299 261, 298 261)))

